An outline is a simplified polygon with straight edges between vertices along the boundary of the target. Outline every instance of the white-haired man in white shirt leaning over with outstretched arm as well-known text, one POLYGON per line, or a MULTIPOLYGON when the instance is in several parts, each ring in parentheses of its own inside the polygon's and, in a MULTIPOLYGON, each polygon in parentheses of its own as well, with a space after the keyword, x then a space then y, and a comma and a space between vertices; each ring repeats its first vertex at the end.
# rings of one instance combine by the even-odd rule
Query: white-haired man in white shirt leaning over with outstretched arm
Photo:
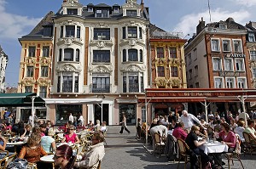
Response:
POLYGON ((180 120, 184 123, 184 129, 190 131, 191 127, 197 123, 198 125, 201 125, 201 122, 198 120, 198 118, 195 117, 195 115, 189 114, 187 110, 182 111, 180 120))

